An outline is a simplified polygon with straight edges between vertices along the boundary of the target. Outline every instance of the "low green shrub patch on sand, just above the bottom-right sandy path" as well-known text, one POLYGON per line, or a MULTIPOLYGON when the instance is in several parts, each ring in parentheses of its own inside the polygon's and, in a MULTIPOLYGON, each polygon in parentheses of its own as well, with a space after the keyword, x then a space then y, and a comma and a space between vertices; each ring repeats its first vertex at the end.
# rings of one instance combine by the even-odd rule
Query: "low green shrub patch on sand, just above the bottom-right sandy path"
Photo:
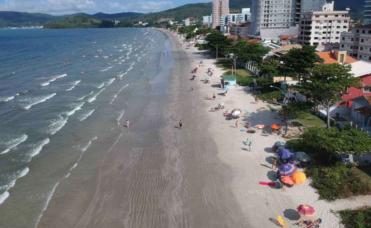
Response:
POLYGON ((311 186, 317 189, 319 199, 329 201, 370 193, 370 184, 364 182, 344 163, 336 162, 334 166, 318 166, 306 169, 311 177, 311 186))

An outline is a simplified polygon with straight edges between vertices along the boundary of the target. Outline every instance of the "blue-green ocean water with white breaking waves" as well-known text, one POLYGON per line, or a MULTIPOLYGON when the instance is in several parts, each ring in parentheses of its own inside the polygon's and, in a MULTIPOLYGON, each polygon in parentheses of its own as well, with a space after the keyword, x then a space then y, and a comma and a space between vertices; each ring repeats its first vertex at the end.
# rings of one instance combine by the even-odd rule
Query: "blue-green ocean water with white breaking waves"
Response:
POLYGON ((92 142, 114 128, 123 132, 117 126, 130 95, 160 70, 164 36, 151 29, 1 30, 0 47, 0 224, 37 227, 92 142))

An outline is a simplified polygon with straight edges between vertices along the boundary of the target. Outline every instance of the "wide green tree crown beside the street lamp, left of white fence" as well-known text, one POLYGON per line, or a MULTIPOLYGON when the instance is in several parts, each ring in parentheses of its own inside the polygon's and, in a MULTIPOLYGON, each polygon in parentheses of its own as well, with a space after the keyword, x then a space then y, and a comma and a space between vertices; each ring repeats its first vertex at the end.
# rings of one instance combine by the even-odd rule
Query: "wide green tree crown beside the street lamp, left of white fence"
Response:
POLYGON ((260 62, 262 57, 268 54, 269 49, 260 43, 240 40, 230 46, 225 53, 233 53, 244 62, 260 62))

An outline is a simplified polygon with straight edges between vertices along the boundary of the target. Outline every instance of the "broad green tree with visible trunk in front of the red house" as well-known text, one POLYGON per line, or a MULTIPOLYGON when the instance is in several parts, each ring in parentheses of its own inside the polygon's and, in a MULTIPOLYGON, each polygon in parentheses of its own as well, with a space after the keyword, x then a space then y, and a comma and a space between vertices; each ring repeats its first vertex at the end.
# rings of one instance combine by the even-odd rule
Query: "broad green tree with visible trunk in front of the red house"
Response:
POLYGON ((353 77, 349 71, 351 65, 342 66, 338 63, 321 64, 308 70, 303 75, 299 88, 309 90, 319 104, 326 107, 327 129, 330 129, 330 107, 339 100, 339 92, 347 87, 361 87, 362 79, 353 77))

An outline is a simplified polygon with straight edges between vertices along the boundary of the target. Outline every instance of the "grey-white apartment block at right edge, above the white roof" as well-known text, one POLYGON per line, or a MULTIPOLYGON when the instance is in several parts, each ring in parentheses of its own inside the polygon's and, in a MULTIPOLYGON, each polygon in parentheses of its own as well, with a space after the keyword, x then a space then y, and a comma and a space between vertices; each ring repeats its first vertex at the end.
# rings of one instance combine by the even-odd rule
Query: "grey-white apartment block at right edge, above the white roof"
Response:
POLYGON ((358 60, 371 62, 371 24, 353 27, 340 35, 340 49, 358 60))

